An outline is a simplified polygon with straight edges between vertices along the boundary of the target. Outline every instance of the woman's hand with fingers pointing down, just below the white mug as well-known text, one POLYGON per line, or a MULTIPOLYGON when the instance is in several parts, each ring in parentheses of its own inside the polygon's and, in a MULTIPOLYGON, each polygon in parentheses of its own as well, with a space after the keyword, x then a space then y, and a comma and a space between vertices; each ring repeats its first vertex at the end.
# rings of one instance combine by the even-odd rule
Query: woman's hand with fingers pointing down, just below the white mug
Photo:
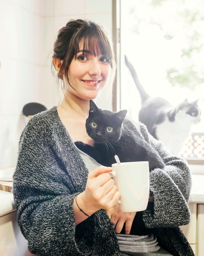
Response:
POLYGON ((108 211, 108 215, 111 219, 111 222, 116 223, 116 226, 115 226, 116 234, 121 233, 123 229, 123 225, 125 223, 125 234, 129 235, 136 212, 123 212, 121 211, 119 205, 117 204, 116 207, 108 211))

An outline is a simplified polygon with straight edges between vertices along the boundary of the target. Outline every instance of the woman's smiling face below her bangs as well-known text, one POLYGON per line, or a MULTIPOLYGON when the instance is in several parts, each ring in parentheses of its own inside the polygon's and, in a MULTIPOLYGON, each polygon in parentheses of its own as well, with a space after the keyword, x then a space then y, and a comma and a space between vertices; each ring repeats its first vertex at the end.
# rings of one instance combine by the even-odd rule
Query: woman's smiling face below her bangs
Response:
POLYGON ((69 66, 69 83, 65 83, 65 93, 84 100, 95 99, 110 77, 110 62, 106 56, 94 56, 91 52, 83 51, 82 45, 79 46, 79 52, 69 66))

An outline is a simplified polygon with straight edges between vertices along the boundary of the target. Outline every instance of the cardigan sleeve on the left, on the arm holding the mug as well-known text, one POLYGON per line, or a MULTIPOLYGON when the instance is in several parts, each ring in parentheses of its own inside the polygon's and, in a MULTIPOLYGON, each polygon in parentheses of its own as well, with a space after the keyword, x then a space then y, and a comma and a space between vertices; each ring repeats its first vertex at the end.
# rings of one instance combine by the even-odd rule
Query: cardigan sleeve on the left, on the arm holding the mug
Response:
POLYGON ((32 253, 81 255, 75 242, 72 207, 76 191, 66 180, 66 168, 50 135, 35 117, 21 135, 13 175, 18 224, 32 253), (63 244, 60 248, 59 243, 63 244))

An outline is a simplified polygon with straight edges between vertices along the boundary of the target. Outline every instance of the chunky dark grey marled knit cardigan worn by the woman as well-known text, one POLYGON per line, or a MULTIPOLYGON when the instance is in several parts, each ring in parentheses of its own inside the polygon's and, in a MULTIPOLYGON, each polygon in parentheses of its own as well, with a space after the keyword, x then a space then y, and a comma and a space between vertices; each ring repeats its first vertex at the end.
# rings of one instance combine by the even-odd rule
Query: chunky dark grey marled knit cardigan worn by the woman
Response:
MULTIPOLYGON (((128 118, 123 129, 132 130, 156 148, 167 166, 154 169, 150 191, 154 204, 143 211, 146 228, 160 246, 173 255, 193 256, 180 225, 190 221, 188 207, 191 174, 186 162, 169 155, 144 125, 128 118)), ((73 199, 85 190, 88 170, 56 107, 29 121, 20 137, 13 175, 18 224, 29 251, 40 256, 117 256, 116 234, 103 209, 75 226, 73 199)))

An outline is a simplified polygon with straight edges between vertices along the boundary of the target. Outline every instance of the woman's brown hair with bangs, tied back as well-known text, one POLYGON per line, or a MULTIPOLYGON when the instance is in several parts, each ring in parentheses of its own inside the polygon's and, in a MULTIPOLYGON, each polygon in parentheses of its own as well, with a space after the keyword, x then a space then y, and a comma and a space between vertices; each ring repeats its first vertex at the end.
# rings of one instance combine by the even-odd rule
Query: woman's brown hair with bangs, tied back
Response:
POLYGON ((69 65, 79 51, 79 43, 83 43, 83 51, 88 50, 94 56, 101 53, 110 61, 113 81, 116 65, 114 50, 108 33, 102 26, 80 19, 70 20, 66 27, 62 27, 54 43, 53 61, 54 58, 63 61, 58 73, 58 79, 63 79, 62 74, 65 74, 67 81, 69 81, 69 65))

